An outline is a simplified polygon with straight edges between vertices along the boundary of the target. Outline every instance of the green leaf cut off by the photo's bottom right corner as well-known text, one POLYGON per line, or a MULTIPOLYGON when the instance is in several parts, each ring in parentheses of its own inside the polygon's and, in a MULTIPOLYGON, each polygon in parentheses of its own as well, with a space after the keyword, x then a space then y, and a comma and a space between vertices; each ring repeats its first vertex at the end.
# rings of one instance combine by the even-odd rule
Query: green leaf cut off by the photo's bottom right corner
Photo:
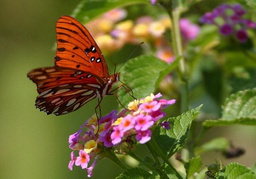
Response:
POLYGON ((256 174, 249 167, 238 163, 231 163, 218 172, 215 178, 252 179, 256 178, 256 174))

